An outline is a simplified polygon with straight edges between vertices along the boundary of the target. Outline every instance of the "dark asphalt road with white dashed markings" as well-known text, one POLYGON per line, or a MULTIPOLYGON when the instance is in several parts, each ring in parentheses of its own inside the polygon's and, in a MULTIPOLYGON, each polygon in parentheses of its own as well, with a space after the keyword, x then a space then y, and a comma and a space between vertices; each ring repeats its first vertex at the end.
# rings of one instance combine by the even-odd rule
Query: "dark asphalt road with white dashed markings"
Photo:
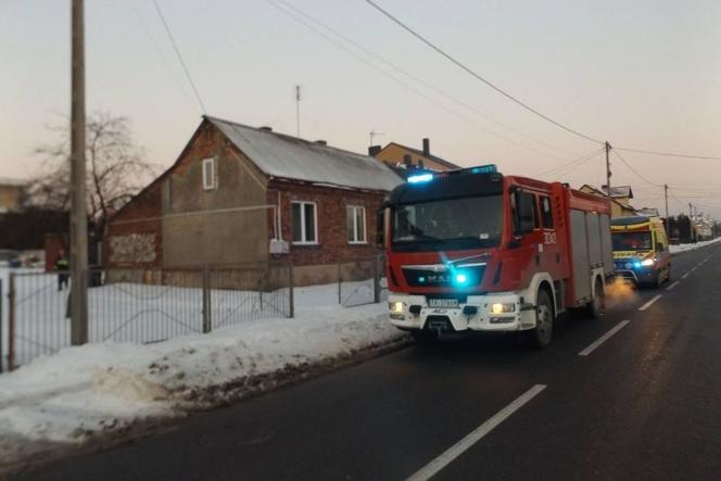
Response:
POLYGON ((511 338, 412 346, 26 478, 414 474, 721 479, 721 249, 675 256, 671 283, 602 319, 561 321, 544 351, 511 338))

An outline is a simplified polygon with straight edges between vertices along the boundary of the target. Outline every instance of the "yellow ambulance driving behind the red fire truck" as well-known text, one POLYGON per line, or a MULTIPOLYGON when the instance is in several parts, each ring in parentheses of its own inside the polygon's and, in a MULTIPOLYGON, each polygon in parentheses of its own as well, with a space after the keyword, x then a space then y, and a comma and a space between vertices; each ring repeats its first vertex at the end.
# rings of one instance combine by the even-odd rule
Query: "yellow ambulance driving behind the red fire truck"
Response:
POLYGON ((671 279, 671 253, 660 217, 617 217, 611 220, 611 239, 618 277, 656 288, 671 279))

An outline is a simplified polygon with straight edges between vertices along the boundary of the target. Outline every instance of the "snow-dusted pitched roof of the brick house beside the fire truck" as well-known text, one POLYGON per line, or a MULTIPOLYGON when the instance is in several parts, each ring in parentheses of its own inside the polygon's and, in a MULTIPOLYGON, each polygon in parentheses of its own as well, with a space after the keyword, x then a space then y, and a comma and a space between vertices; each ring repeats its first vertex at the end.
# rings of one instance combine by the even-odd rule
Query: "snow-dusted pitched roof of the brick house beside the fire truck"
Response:
POLYGON ((403 180, 367 155, 205 116, 270 177, 355 189, 391 191, 403 180))

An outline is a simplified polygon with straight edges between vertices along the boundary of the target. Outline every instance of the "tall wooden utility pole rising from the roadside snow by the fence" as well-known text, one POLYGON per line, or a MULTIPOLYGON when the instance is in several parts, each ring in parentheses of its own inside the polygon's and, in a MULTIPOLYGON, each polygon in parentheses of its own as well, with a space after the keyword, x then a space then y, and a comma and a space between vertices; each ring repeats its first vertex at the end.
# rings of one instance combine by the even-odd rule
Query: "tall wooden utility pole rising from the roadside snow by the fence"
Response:
POLYGON ((71 343, 88 342, 88 216, 85 192, 85 14, 72 0, 71 343))

